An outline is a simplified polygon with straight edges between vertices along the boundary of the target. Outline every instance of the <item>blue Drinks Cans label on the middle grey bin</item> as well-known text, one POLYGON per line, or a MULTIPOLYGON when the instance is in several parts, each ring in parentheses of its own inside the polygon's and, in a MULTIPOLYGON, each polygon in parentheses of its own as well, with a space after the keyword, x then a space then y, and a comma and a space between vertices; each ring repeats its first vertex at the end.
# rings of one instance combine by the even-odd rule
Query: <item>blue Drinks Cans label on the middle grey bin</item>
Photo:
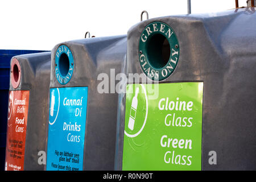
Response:
POLYGON ((52 88, 49 102, 47 171, 81 171, 88 87, 52 88))

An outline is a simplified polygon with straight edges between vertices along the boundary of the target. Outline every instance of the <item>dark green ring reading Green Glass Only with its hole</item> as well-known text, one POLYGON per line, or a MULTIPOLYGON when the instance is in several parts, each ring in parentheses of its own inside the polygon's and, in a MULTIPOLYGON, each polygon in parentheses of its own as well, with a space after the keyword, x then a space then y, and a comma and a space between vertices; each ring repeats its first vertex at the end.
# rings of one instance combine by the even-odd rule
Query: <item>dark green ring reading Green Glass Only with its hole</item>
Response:
POLYGON ((139 63, 152 80, 169 77, 179 61, 179 42, 170 26, 152 22, 142 31, 139 40, 139 63))

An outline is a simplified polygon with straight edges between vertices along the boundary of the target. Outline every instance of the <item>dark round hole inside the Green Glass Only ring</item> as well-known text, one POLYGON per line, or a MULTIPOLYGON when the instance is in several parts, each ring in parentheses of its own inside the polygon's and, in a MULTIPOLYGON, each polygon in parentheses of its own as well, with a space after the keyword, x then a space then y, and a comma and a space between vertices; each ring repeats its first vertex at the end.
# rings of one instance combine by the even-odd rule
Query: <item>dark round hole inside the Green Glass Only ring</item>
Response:
POLYGON ((163 68, 170 59, 170 44, 162 34, 151 36, 147 41, 146 51, 148 63, 155 69, 163 68))

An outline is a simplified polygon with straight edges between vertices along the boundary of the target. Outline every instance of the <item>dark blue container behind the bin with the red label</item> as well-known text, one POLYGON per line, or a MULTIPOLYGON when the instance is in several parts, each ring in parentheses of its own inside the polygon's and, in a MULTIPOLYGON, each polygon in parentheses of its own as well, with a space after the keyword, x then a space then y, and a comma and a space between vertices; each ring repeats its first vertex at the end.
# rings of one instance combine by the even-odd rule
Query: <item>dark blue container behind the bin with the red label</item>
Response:
POLYGON ((11 57, 27 53, 46 52, 36 50, 0 49, 0 171, 5 169, 6 125, 10 84, 11 57))

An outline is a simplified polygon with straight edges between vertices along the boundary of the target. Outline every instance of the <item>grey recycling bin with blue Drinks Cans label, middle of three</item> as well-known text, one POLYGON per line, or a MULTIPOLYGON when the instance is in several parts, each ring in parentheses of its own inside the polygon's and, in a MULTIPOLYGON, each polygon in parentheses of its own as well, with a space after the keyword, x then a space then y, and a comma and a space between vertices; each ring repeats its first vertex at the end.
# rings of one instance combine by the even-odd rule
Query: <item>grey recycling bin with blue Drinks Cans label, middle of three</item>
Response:
POLYGON ((122 72, 126 48, 122 35, 52 49, 47 170, 114 169, 115 75, 122 72))

